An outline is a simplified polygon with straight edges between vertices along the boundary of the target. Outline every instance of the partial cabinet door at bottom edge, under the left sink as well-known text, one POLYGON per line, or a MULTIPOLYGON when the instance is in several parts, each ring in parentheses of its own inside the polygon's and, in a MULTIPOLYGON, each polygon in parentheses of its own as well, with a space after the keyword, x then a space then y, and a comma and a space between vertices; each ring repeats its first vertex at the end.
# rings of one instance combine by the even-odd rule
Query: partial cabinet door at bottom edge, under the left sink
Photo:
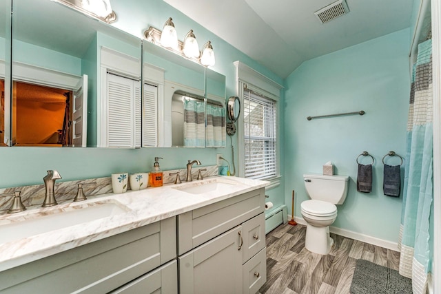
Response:
POLYGON ((110 292, 110 294, 178 293, 178 266, 176 260, 110 292))

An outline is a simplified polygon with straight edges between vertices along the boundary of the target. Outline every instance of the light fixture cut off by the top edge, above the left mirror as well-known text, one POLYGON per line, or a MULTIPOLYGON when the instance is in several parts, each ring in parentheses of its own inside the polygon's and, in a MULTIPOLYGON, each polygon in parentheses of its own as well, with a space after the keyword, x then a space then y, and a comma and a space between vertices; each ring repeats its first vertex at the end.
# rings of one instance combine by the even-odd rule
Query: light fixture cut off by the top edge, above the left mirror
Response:
POLYGON ((105 23, 116 21, 110 0, 52 0, 105 23))

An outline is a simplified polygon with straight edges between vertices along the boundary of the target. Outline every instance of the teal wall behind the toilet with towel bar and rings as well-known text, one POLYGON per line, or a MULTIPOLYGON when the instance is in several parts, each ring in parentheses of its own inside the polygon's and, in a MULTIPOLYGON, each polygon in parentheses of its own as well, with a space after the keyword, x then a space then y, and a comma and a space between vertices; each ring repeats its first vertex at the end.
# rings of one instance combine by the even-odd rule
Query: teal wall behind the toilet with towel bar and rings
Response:
MULTIPOLYGON (((300 203, 308 199, 302 174, 321 173, 331 161, 336 174, 351 178, 334 227, 398 241, 402 196, 383 195, 382 157, 390 150, 405 155, 408 54, 407 29, 306 61, 286 79, 285 201, 290 203, 295 189, 295 216, 301 216, 300 203), (306 119, 359 110, 366 114, 306 119), (356 158, 362 151, 375 158, 371 193, 356 191, 356 158)), ((360 163, 370 163, 362 157, 360 163)), ((385 160, 400 163, 398 158, 385 160)))

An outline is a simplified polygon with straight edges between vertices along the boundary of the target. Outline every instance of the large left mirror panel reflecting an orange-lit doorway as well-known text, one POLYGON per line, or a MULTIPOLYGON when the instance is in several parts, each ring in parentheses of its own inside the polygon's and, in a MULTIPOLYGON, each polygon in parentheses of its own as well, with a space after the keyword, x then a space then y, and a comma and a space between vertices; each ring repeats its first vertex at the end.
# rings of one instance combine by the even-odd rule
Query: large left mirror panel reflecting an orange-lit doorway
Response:
POLYGON ((137 79, 141 93, 141 39, 54 1, 14 0, 12 9, 10 145, 105 147, 106 75, 137 79), (138 59, 137 73, 103 66, 103 50, 138 59))

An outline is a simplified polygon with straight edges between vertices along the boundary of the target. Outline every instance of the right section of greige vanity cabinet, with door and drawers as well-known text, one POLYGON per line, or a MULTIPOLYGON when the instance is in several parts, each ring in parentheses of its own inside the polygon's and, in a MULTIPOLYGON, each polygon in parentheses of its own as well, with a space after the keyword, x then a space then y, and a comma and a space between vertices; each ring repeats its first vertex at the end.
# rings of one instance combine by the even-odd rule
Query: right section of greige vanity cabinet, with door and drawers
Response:
POLYGON ((265 189, 178 216, 179 293, 256 293, 266 282, 265 189))

